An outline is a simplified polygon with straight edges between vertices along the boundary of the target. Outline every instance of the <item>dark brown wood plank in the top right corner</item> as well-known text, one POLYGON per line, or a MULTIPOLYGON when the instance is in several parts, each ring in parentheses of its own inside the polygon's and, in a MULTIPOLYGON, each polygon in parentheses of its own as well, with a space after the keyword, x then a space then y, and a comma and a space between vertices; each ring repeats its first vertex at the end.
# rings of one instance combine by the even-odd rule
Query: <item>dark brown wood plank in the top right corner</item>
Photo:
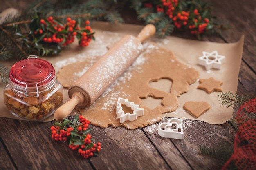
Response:
POLYGON ((256 1, 211 0, 210 2, 215 7, 213 15, 231 25, 231 29, 223 34, 227 42, 236 42, 241 35, 245 35, 243 60, 256 73, 256 1))

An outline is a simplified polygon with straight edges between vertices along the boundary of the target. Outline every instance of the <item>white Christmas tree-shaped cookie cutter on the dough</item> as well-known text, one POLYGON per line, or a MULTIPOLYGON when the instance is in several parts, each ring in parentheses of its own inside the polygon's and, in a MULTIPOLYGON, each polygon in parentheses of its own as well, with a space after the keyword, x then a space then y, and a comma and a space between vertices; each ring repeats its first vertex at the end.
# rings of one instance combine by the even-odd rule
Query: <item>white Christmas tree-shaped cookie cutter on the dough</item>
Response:
POLYGON ((117 100, 117 118, 120 118, 120 123, 124 123, 125 121, 135 121, 138 116, 144 115, 144 109, 139 108, 138 104, 134 104, 134 102, 129 102, 128 99, 123 99, 118 97, 117 100), (127 107, 130 107, 133 110, 133 113, 124 113, 123 107, 121 104, 125 104, 127 107))

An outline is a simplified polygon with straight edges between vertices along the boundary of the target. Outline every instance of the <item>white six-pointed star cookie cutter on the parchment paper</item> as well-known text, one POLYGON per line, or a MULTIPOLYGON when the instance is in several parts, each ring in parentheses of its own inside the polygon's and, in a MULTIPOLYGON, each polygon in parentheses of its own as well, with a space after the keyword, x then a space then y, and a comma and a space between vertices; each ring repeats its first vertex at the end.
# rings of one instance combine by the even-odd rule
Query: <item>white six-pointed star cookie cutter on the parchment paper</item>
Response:
POLYGON ((217 51, 211 53, 203 51, 203 56, 198 58, 198 64, 205 66, 207 70, 211 68, 220 69, 223 63, 225 63, 225 56, 219 55, 217 51))

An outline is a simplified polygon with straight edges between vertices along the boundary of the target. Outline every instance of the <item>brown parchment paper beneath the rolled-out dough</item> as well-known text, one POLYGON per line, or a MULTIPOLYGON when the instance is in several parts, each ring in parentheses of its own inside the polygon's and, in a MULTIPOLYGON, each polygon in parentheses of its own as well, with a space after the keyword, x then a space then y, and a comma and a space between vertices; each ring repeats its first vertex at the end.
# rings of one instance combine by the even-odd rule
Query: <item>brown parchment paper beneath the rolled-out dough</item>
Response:
MULTIPOLYGON (((92 23, 92 29, 96 32, 95 41, 92 41, 86 48, 80 48, 76 42, 72 44, 70 49, 61 52, 58 56, 54 57, 41 57, 48 60, 54 66, 56 73, 58 70, 68 64, 74 62, 81 62, 87 57, 102 56, 108 50, 109 46, 119 40, 126 34, 137 35, 142 29, 142 26, 122 24, 120 26, 111 26, 106 22, 94 22, 92 23)), ((243 53, 243 41, 244 37, 235 43, 215 43, 215 42, 202 42, 196 40, 185 40, 181 38, 175 38, 168 36, 165 39, 158 39, 156 37, 150 38, 148 42, 154 42, 158 46, 163 47, 169 51, 172 51, 177 57, 177 60, 185 64, 193 66, 199 72, 199 78, 207 79, 209 77, 215 77, 217 80, 223 82, 222 90, 231 91, 236 93, 238 84, 238 73, 240 69, 240 63, 243 53), (221 66, 220 70, 211 69, 205 70, 204 66, 197 64, 198 57, 202 56, 202 51, 212 52, 218 51, 219 55, 226 57, 226 63, 221 66)), ((5 65, 11 67, 16 61, 3 62, 5 65)), ((178 97, 180 106, 175 112, 166 113, 164 117, 177 117, 182 119, 195 119, 184 109, 184 103, 186 101, 206 101, 211 105, 211 109, 200 116, 198 119, 205 121, 209 124, 222 124, 232 117, 233 108, 220 107, 221 102, 217 96, 219 92, 213 92, 208 94, 207 92, 197 89, 199 82, 189 86, 189 91, 178 97), (210 117, 210 118, 209 118, 210 117)), ((10 117, 17 119, 17 117, 11 115, 5 108, 3 102, 3 89, 4 84, 0 85, 0 116, 10 117)), ((67 89, 64 90, 64 102, 68 100, 67 89)), ((77 114, 73 112, 72 114, 77 114)), ((54 119, 53 116, 49 117, 45 121, 54 119)))

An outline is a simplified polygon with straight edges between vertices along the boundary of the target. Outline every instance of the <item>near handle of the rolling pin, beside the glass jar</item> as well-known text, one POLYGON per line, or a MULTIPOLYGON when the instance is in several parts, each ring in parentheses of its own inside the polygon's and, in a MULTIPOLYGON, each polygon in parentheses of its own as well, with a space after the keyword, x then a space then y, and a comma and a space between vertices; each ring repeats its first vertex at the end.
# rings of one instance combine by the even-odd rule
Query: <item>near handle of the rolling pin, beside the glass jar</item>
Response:
POLYGON ((73 93, 71 99, 55 111, 54 118, 57 121, 62 121, 63 118, 66 118, 72 112, 76 105, 83 103, 84 100, 85 97, 81 92, 73 93))

